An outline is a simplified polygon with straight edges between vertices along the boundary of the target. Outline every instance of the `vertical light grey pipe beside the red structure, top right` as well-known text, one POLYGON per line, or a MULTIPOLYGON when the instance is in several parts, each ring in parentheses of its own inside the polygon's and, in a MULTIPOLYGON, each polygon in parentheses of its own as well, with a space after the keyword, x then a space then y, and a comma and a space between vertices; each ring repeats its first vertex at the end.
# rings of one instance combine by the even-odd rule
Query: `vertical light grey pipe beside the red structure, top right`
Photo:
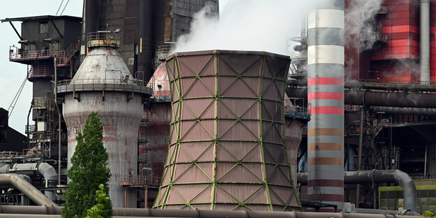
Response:
POLYGON ((421 84, 430 82, 430 0, 421 0, 420 68, 421 84))

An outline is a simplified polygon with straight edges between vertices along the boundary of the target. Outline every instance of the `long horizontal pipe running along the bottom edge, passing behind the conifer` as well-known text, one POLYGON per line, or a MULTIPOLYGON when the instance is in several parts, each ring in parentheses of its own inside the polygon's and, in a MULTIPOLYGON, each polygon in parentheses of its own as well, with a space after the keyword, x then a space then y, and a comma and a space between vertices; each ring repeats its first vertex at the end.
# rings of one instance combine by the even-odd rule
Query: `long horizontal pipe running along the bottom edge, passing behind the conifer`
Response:
MULTIPOLYGON (((61 215, 61 207, 48 206, 15 206, 1 205, 0 215, 21 215, 22 217, 40 217, 49 215, 57 217, 61 215)), ((405 215, 375 215, 343 212, 267 212, 267 211, 221 211, 221 210, 161 210, 161 209, 138 209, 138 208, 113 208, 114 217, 208 217, 208 218, 422 218, 421 216, 405 215)), ((5 217, 5 216, 2 216, 5 217)))

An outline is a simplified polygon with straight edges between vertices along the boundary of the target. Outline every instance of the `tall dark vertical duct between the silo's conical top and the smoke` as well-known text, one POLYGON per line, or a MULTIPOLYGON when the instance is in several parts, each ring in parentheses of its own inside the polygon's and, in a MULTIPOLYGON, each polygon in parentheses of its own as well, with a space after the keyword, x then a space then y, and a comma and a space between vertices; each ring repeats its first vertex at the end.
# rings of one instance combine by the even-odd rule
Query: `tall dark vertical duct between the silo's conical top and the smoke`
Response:
POLYGON ((138 15, 138 79, 148 82, 153 75, 153 4, 152 0, 139 1, 138 15))

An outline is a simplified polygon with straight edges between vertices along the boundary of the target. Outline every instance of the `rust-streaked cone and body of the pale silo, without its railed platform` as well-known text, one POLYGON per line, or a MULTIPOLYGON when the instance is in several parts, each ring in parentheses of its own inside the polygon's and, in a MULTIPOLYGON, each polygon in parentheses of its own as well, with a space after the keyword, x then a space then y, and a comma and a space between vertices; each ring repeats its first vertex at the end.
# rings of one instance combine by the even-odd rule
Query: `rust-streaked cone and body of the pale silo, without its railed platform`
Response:
MULTIPOLYGON (((96 48, 90 54, 92 55, 85 58, 73 81, 108 77, 119 79, 122 76, 132 78, 115 50, 96 48)), ((104 126, 103 145, 109 154, 108 167, 112 174, 109 195, 114 207, 122 207, 124 190, 119 185, 121 176, 136 175, 138 167, 138 128, 143 117, 143 99, 138 94, 128 96, 124 92, 87 91, 78 95, 78 99, 75 99, 73 93, 64 96, 63 115, 68 127, 68 168, 71 167, 70 160, 77 145, 75 136, 83 131, 89 113, 98 112, 104 126)), ((136 207, 136 192, 128 191, 127 196, 127 206, 136 207)))

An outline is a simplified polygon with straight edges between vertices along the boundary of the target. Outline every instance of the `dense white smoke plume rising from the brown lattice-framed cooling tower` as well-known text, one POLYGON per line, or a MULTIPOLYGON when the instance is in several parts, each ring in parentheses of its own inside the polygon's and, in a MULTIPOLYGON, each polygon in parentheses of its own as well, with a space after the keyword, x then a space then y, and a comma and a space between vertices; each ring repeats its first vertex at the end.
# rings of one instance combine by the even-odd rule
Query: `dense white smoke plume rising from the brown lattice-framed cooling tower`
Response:
POLYGON ((319 0, 231 0, 212 15, 206 6, 194 15, 190 33, 177 39, 173 52, 256 50, 289 55, 289 41, 300 35, 307 12, 319 0))

